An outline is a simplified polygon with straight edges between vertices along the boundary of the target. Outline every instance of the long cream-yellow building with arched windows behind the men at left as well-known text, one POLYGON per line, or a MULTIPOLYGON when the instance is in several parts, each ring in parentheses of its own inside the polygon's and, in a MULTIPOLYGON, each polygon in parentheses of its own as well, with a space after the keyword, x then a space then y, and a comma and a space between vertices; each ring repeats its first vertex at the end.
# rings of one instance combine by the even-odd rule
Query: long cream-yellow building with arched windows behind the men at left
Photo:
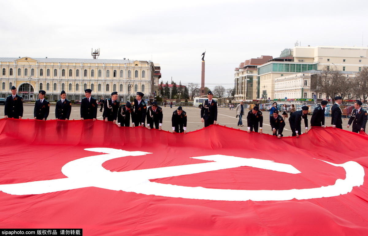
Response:
POLYGON ((155 68, 148 61, 23 57, 0 58, 0 64, 1 97, 15 86, 25 100, 38 99, 39 90, 45 90, 51 101, 59 99, 61 90, 69 100, 81 100, 85 89, 92 89, 92 97, 98 99, 109 98, 113 91, 123 102, 137 91, 153 98, 155 68))

